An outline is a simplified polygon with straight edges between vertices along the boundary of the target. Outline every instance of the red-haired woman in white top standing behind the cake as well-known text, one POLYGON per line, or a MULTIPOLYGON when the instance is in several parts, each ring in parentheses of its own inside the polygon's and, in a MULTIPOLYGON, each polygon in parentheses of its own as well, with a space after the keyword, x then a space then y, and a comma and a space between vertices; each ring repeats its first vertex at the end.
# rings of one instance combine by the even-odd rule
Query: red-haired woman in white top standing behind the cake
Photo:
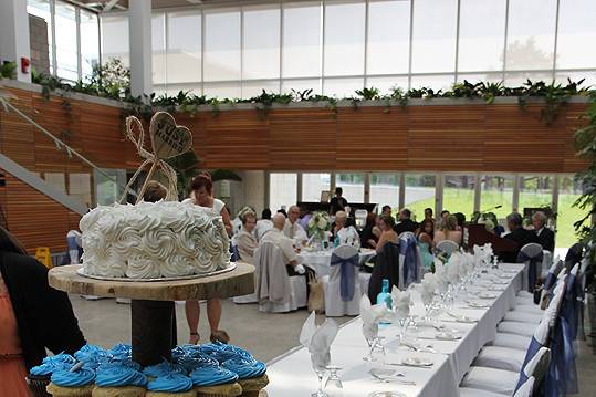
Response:
MULTIPOLYGON (((192 190, 192 203, 201 207, 212 208, 216 212, 221 215, 223 224, 228 233, 232 230, 230 222, 230 215, 226 209, 223 201, 213 197, 213 181, 209 173, 202 171, 192 179, 190 185, 192 190)), ((187 199, 188 200, 188 199, 187 199)), ((186 201, 186 200, 185 200, 186 201)), ((199 336, 199 317, 200 306, 198 301, 186 301, 186 320, 188 327, 190 328, 190 344, 197 344, 200 339, 199 336)), ((207 318, 209 321, 209 327, 211 328, 211 341, 220 341, 223 343, 229 342, 228 334, 219 330, 219 322, 221 320, 221 301, 219 299, 207 300, 207 318)))

